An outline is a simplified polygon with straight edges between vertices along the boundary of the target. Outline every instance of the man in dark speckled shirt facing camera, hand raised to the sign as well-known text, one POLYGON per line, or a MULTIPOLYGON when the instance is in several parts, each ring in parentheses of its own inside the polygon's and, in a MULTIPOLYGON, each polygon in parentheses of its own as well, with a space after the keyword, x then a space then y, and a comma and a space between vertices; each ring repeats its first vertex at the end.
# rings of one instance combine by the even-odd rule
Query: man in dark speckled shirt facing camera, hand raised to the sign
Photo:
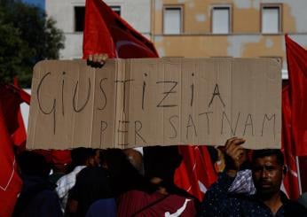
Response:
POLYGON ((207 191, 201 205, 201 216, 307 216, 306 209, 289 200, 280 190, 287 173, 280 150, 254 151, 253 181, 256 194, 238 195, 228 192, 241 166, 244 139, 233 137, 225 143, 226 167, 207 191))

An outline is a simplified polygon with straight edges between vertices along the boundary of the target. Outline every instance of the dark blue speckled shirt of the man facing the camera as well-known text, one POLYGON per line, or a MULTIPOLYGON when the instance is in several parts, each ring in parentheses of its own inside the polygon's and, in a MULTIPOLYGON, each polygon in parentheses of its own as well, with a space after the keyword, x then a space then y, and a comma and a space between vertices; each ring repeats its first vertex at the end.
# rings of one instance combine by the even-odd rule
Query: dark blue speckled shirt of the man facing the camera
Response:
POLYGON ((206 192, 201 204, 200 216, 250 216, 250 217, 281 217, 281 216, 307 216, 306 209, 295 201, 287 199, 280 191, 282 206, 277 213, 272 213, 256 195, 234 195, 228 193, 234 177, 225 172, 220 174, 216 183, 206 192))

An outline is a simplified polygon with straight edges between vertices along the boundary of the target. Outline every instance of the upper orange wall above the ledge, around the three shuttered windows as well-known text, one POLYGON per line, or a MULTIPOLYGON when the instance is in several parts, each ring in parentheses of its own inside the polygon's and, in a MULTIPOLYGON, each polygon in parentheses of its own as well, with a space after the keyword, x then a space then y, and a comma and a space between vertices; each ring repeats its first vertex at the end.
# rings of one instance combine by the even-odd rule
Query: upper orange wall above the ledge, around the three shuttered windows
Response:
MULTIPOLYGON (((295 17, 291 11, 291 1, 270 1, 270 4, 280 4, 282 12, 282 29, 295 32, 295 17)), ((295 0, 292 0, 295 4, 295 0)), ((252 0, 153 0, 153 33, 162 34, 163 6, 178 5, 184 9, 185 34, 210 34, 211 33, 211 7, 214 5, 230 5, 232 8, 232 33, 233 34, 258 34, 261 30, 261 5, 265 1, 252 0), (250 2, 244 5, 238 2, 250 2)), ((307 1, 304 6, 307 6, 307 1)), ((303 14, 302 14, 303 15, 303 14)))

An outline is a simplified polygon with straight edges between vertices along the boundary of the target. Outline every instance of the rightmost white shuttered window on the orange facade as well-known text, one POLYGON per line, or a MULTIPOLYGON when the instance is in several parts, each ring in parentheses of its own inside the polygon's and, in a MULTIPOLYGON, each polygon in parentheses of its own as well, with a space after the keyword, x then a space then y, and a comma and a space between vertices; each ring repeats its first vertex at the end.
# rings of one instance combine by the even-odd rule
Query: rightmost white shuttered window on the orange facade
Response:
POLYGON ((263 5, 261 32, 264 34, 277 34, 281 32, 280 5, 263 5))

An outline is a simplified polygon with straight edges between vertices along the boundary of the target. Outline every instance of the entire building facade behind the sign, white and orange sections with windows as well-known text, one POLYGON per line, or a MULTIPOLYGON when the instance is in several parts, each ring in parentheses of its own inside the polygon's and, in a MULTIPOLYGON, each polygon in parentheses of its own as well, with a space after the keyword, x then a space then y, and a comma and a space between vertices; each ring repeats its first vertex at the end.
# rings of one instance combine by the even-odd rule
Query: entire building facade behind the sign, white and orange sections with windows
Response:
MULTIPOLYGON (((105 2, 149 37, 161 57, 277 58, 287 78, 284 35, 307 47, 306 0, 105 2)), ((61 58, 82 57, 84 4, 46 0, 47 14, 66 35, 61 58)))

